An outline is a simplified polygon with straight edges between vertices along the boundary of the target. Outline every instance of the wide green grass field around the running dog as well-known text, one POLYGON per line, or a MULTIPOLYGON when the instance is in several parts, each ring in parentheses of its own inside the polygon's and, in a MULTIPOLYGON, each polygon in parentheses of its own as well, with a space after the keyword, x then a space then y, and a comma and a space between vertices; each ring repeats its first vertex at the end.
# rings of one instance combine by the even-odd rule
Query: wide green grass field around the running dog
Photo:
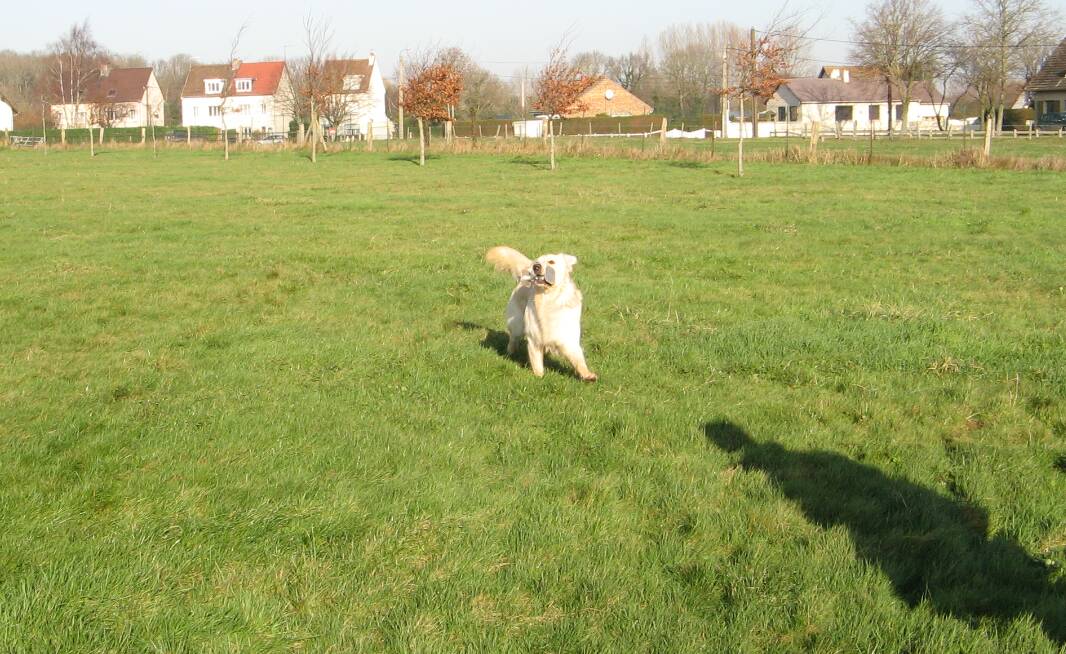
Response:
POLYGON ((0 151, 0 651, 1066 650, 1062 175, 733 165, 0 151))

